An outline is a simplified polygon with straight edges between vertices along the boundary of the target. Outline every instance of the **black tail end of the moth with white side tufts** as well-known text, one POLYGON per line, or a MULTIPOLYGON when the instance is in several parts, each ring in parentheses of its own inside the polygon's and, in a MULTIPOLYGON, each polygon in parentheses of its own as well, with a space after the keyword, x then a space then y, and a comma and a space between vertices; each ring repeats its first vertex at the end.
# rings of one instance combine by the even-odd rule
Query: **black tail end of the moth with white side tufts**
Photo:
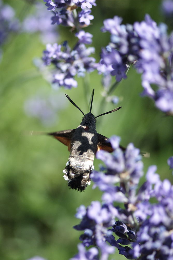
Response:
POLYGON ((83 167, 76 166, 71 167, 69 164, 64 169, 64 179, 68 181, 68 187, 70 189, 84 191, 88 185, 90 185, 90 169, 84 169, 83 167))

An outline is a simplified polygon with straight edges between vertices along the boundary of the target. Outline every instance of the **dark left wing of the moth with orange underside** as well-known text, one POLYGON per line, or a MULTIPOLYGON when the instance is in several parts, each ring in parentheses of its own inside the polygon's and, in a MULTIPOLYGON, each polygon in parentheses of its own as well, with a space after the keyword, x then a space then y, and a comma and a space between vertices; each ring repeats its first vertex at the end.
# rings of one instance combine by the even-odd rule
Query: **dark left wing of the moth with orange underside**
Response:
POLYGON ((68 151, 71 149, 71 138, 76 129, 69 129, 64 131, 58 131, 53 133, 48 133, 48 135, 52 135, 58 141, 68 146, 68 151))

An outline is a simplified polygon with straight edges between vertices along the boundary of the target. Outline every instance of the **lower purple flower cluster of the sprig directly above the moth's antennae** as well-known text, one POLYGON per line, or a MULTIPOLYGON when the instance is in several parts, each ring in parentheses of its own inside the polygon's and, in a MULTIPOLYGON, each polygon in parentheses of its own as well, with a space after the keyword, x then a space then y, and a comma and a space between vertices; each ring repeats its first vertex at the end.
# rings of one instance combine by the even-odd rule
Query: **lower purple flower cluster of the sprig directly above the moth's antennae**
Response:
POLYGON ((94 53, 93 47, 86 48, 85 44, 77 43, 73 50, 65 42, 63 46, 47 44, 43 61, 56 67, 53 83, 65 88, 77 87, 74 76, 84 77, 85 72, 92 72, 96 68, 95 59, 89 57, 94 53))

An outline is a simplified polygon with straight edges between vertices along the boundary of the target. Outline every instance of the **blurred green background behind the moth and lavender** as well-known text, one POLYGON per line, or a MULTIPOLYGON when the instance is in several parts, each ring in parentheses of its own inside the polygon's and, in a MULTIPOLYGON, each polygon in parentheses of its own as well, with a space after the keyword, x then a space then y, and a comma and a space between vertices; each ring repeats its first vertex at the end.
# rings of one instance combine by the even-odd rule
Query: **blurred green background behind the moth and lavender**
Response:
MULTIPOLYGON (((31 1, 4 2, 15 9, 20 21, 34 10, 31 1)), ((148 13, 157 23, 164 21, 160 12, 161 1, 158 0, 99 0, 96 3, 97 6, 92 8, 95 19, 86 31, 94 35, 92 46, 96 48, 97 61, 101 47, 109 42, 109 34, 100 32, 104 19, 118 15, 123 18, 123 23, 133 23, 142 21, 148 13)), ((74 45, 76 39, 69 28, 60 27, 59 35, 59 44, 68 40, 70 46, 74 45)), ((49 136, 29 136, 27 132, 76 128, 82 114, 65 100, 65 108, 58 110, 56 122, 44 125, 39 119, 26 115, 24 104, 37 93, 45 96, 67 93, 87 113, 89 95, 95 88, 92 112, 98 115, 102 112, 99 112, 101 76, 96 72, 87 76, 89 95, 86 102, 84 79, 78 79, 77 89, 54 90, 33 65, 33 58, 41 57, 45 49, 39 34, 11 35, 2 49, 0 259, 25 260, 40 255, 48 260, 66 260, 77 253, 77 244, 80 243, 81 233, 72 228, 79 223, 74 217, 76 208, 81 204, 87 206, 92 200, 100 200, 101 193, 93 190, 92 184, 83 193, 69 190, 63 178, 63 169, 69 156, 67 147, 49 136)), ((97 131, 107 137, 119 135, 123 146, 133 142, 142 151, 149 152, 150 158, 143 158, 145 173, 149 165, 155 164, 161 179, 172 181, 167 159, 173 155, 173 118, 164 116, 148 97, 141 98, 141 92, 141 76, 130 68, 128 78, 113 93, 120 96, 121 101, 118 105, 106 103, 102 109, 107 112, 117 106, 123 108, 98 118, 97 131)), ((94 160, 96 170, 100 163, 94 160)), ((125 259, 118 252, 111 258, 125 259)))

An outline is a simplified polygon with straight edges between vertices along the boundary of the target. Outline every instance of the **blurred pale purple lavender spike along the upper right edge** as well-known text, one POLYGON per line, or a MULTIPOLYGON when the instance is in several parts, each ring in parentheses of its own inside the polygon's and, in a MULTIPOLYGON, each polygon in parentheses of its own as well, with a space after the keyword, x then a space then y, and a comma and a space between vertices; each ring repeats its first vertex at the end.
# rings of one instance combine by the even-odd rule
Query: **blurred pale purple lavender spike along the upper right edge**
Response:
POLYGON ((172 72, 165 58, 168 60, 173 45, 167 36, 166 27, 163 25, 157 27, 157 24, 146 15, 145 21, 134 24, 134 29, 140 36, 139 43, 142 48, 136 66, 137 70, 143 73, 144 94, 152 97, 156 106, 163 112, 171 112, 173 111, 173 88, 170 77, 172 72), (158 90, 154 92, 150 84, 156 84, 158 90))

